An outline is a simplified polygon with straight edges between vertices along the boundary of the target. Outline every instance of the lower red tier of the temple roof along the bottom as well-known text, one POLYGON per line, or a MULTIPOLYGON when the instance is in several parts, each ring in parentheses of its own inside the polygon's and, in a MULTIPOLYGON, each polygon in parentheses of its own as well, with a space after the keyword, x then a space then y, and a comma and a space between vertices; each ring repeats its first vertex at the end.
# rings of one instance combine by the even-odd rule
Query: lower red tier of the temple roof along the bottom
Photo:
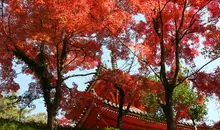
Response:
MULTIPOLYGON (((84 108, 81 116, 75 122, 78 127, 86 128, 105 128, 115 127, 118 110, 117 105, 113 103, 104 103, 103 106, 93 104, 90 107, 84 108)), ((134 109, 133 109, 134 110, 134 109)), ((177 124, 178 130, 194 130, 192 123, 179 122, 177 124)), ((137 111, 129 111, 122 119, 123 129, 139 129, 139 130, 166 130, 166 122, 159 121, 152 117, 142 118, 137 111)), ((209 130, 206 127, 197 127, 198 130, 209 130)))

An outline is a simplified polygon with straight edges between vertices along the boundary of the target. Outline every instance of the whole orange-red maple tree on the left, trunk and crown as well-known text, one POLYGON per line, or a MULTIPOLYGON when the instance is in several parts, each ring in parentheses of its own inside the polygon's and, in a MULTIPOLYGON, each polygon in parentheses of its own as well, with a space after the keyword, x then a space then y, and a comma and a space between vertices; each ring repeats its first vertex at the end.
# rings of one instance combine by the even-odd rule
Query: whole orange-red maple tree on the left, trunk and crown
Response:
POLYGON ((89 75, 69 72, 91 69, 100 62, 96 36, 104 28, 102 23, 115 34, 125 28, 122 24, 126 22, 126 12, 114 5, 110 0, 2 0, 0 91, 19 88, 12 66, 23 65, 23 73, 33 75, 43 90, 48 129, 54 129, 62 92, 68 88, 64 81, 89 75), (112 24, 118 15, 121 17, 112 24))

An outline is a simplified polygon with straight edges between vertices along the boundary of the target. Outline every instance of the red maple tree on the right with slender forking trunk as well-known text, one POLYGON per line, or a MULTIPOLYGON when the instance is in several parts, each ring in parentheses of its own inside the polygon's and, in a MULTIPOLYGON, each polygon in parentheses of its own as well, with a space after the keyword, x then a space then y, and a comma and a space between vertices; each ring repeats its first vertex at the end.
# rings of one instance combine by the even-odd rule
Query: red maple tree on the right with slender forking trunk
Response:
POLYGON ((165 103, 161 105, 164 106, 167 129, 176 129, 172 99, 174 89, 187 79, 195 79, 193 85, 199 90, 215 91, 214 86, 219 86, 218 73, 207 74, 199 71, 220 57, 217 55, 219 36, 216 34, 219 32, 216 24, 219 21, 217 12, 220 3, 218 0, 128 0, 126 2, 133 8, 133 13, 145 16, 145 21, 140 21, 136 27, 133 27, 137 38, 143 41, 136 43, 134 49, 139 52, 137 57, 141 71, 153 73, 162 83, 165 103), (201 40, 202 37, 204 41, 201 40), (214 57, 210 62, 196 69, 194 59, 204 54, 199 47, 212 50, 210 53, 214 53, 214 57), (188 70, 192 68, 192 71, 181 75, 181 65, 186 66, 188 70), (199 77, 203 77, 203 80, 199 77))

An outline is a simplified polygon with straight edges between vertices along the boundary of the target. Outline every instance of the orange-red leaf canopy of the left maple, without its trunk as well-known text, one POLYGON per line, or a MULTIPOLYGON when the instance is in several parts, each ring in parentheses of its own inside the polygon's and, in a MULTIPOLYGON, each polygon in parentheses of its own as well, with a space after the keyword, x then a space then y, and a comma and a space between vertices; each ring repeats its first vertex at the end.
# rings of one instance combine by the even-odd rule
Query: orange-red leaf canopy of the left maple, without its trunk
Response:
MULTIPOLYGON (((25 52, 36 63, 42 61, 39 54, 43 51, 54 82, 57 78, 57 60, 62 57, 62 42, 68 42, 66 59, 62 61, 64 73, 77 68, 94 68, 102 54, 99 38, 109 35, 104 30, 109 28, 117 35, 126 29, 130 19, 128 13, 113 1, 12 0, 4 6, 4 17, 1 18, 1 77, 4 82, 12 81, 15 90, 18 85, 13 82, 16 76, 12 69, 15 58, 13 50, 25 52), (113 22, 115 17, 117 20, 113 22)), ((32 73, 30 68, 25 68, 24 73, 32 73)), ((3 86, 6 87, 6 84, 3 86)))

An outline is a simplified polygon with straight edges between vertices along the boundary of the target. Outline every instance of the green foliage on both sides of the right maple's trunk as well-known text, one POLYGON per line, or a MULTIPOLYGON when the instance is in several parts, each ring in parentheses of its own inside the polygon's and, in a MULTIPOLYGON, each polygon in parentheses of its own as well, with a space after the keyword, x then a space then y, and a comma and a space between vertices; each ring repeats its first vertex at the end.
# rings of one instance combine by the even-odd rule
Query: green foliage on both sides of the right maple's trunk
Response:
MULTIPOLYGON (((165 120, 165 115, 162 111, 161 104, 161 95, 149 93, 144 96, 143 102, 145 104, 145 109, 148 112, 147 116, 153 117, 156 120, 165 120)), ((174 89, 173 92, 173 104, 174 111, 177 113, 179 109, 182 109, 185 106, 188 106, 188 109, 184 111, 189 115, 194 121, 201 121, 204 116, 207 114, 206 104, 196 103, 199 99, 199 95, 196 91, 190 89, 189 86, 184 84, 179 85, 174 89)), ((205 99, 204 102, 207 102, 205 99)))

